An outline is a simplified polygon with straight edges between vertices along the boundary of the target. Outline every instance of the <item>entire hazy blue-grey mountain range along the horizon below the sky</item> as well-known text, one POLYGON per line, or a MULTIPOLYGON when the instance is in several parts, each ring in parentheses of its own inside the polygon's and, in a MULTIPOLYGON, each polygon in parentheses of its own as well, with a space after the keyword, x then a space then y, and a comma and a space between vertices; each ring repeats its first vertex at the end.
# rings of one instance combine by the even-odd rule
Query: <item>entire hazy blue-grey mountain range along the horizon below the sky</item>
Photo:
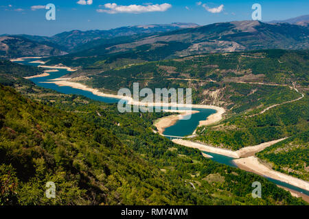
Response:
POLYGON ((205 26, 194 23, 137 25, 110 30, 73 30, 51 37, 5 35, 0 37, 0 55, 61 55, 48 61, 67 62, 69 59, 71 63, 67 64, 71 66, 96 67, 98 62, 106 62, 108 59, 111 60, 108 62, 113 62, 124 56, 126 59, 144 62, 201 53, 308 49, 307 18, 301 16, 280 23, 233 21, 205 26), (87 57, 87 63, 83 57, 87 57))

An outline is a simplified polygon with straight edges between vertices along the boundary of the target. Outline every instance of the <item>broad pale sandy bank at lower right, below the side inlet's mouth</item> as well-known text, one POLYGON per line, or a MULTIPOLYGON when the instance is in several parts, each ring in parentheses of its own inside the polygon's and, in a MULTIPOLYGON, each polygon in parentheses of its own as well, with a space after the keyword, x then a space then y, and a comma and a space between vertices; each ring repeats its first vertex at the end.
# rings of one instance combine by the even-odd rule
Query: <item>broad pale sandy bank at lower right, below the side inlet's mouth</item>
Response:
POLYGON ((268 168, 264 164, 261 164, 257 157, 246 157, 241 159, 234 159, 233 162, 242 170, 247 170, 250 172, 255 172, 263 177, 269 177, 272 179, 277 179, 284 183, 294 185, 303 190, 309 191, 309 182, 302 179, 297 179, 295 177, 286 175, 282 172, 277 172, 271 168, 268 168))

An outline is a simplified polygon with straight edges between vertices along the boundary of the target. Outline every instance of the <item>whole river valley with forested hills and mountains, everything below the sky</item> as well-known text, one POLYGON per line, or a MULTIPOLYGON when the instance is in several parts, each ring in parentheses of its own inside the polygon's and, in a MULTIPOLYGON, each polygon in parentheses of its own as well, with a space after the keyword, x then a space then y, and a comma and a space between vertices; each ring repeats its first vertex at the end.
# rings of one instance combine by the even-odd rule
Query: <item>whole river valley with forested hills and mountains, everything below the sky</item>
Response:
POLYGON ((0 205, 308 205, 301 18, 0 36, 0 205))

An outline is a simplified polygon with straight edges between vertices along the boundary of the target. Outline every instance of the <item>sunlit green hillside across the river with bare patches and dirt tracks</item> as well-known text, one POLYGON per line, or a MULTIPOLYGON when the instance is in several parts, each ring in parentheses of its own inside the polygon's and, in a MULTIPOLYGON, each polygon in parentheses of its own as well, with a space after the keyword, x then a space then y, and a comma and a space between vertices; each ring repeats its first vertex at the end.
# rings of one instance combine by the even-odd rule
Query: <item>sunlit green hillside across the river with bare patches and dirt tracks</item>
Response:
POLYGON ((307 86, 308 51, 265 50, 218 53, 129 64, 95 75, 67 75, 93 88, 117 94, 119 88, 192 88, 196 104, 218 105, 240 113, 297 99, 293 87, 307 86))

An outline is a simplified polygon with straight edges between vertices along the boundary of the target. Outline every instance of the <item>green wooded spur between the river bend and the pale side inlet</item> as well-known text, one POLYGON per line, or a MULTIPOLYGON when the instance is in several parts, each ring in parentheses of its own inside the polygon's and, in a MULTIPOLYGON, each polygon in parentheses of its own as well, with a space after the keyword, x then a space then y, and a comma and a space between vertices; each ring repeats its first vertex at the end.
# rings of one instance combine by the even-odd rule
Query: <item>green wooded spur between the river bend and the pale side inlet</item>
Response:
POLYGON ((238 150, 244 146, 253 146, 307 131, 308 120, 309 102, 306 97, 273 107, 264 114, 233 116, 223 120, 220 125, 199 127, 195 140, 238 150))

